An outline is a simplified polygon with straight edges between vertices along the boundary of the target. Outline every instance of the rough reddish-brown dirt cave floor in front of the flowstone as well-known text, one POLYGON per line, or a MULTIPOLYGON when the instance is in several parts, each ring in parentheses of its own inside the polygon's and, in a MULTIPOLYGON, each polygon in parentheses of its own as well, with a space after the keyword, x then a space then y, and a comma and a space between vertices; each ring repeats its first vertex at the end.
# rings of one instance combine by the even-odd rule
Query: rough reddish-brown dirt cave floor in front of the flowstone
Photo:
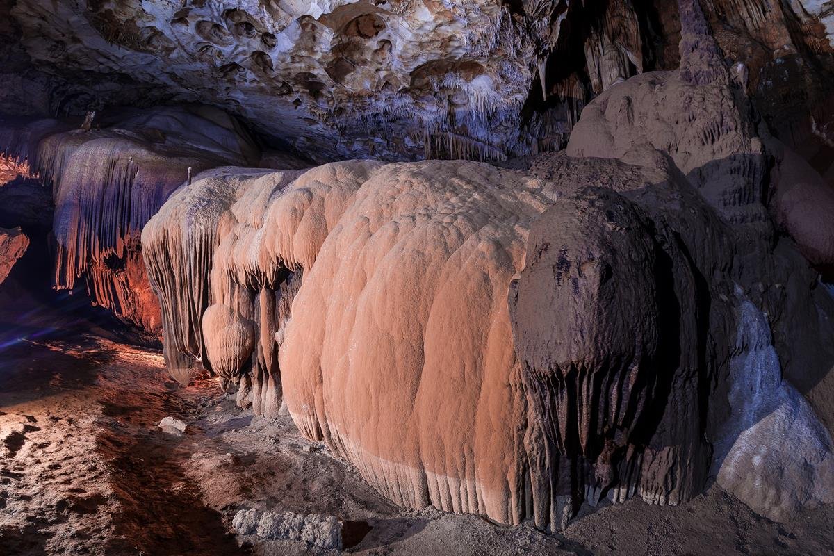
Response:
POLYGON ((237 536, 241 508, 338 515, 345 552, 368 555, 832 553, 831 513, 772 523, 716 486, 676 508, 583 508, 557 536, 404 511, 289 418, 255 418, 214 380, 180 388, 156 351, 83 327, 9 341, 0 326, 3 556, 334 553, 237 536), (187 433, 158 428, 168 415, 187 433))

